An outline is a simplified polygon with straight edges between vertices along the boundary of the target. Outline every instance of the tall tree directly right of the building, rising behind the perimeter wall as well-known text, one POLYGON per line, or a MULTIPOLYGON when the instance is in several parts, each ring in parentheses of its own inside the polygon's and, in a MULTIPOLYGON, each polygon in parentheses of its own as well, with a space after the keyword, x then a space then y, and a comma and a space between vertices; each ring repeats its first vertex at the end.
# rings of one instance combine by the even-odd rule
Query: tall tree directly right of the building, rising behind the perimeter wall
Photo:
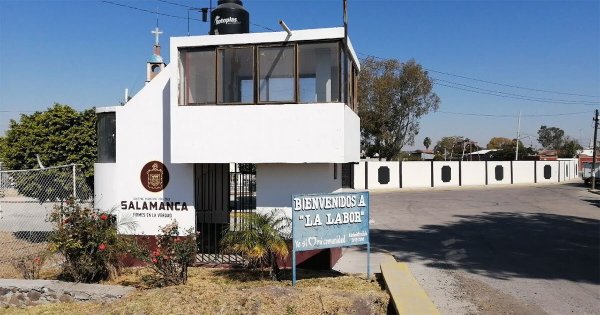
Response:
POLYGON ((362 60, 358 85, 361 143, 367 156, 396 158, 414 144, 419 119, 439 108, 433 80, 414 60, 362 60))

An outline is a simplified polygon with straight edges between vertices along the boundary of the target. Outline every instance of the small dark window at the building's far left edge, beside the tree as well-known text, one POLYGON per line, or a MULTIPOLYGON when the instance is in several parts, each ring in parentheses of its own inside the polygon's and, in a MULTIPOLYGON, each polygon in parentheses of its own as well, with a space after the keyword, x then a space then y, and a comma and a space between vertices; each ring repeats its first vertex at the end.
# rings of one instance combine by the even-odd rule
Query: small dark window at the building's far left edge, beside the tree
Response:
POLYGON ((98 113, 96 116, 98 137, 98 163, 115 163, 117 157, 117 121, 112 113, 98 113))

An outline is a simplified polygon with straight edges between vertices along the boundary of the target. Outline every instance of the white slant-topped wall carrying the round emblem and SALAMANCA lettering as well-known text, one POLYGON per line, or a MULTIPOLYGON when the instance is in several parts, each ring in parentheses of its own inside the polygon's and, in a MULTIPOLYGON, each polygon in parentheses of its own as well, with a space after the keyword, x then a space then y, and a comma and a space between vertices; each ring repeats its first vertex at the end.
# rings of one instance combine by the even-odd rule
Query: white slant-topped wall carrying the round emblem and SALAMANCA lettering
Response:
POLYGON ((95 193, 102 197, 101 205, 118 207, 119 223, 135 224, 134 229, 120 225, 119 232, 123 234, 157 234, 160 227, 174 219, 180 231, 195 227, 193 165, 173 164, 169 150, 169 71, 173 68, 174 65, 167 66, 127 104, 117 108, 116 163, 97 164, 95 193), (141 183, 142 167, 153 160, 162 162, 169 171, 169 183, 161 192, 150 192, 141 183), (120 209, 122 202, 132 201, 185 202, 188 210, 120 209))

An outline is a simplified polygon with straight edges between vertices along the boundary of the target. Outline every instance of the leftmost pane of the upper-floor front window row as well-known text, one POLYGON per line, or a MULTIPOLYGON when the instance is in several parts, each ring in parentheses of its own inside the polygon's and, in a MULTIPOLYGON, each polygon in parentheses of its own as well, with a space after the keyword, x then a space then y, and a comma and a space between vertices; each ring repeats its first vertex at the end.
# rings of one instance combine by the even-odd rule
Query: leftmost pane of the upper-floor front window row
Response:
POLYGON ((185 105, 215 103, 215 50, 190 50, 180 54, 183 64, 185 105))

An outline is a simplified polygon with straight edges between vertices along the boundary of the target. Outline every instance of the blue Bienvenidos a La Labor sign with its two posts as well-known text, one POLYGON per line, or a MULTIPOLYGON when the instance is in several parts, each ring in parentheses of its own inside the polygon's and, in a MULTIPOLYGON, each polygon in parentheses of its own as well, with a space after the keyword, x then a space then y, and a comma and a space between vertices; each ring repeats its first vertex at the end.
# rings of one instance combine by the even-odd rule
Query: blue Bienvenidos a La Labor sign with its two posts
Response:
POLYGON ((292 196, 292 285, 296 252, 356 245, 367 245, 369 278, 369 192, 292 196))

